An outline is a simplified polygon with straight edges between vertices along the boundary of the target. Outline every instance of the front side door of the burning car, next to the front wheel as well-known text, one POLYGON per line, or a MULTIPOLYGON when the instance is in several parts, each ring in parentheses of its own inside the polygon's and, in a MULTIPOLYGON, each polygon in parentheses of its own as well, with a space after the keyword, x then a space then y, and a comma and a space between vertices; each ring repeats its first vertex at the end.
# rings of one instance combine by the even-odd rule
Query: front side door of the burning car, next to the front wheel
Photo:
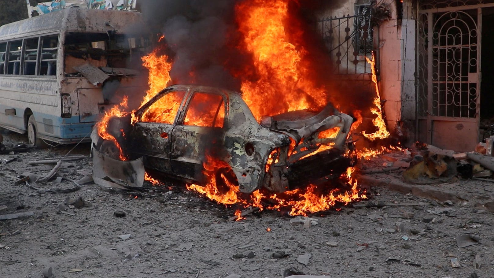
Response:
POLYGON ((146 156, 150 168, 171 173, 170 137, 186 93, 181 90, 163 93, 137 113, 131 145, 133 152, 146 156))

